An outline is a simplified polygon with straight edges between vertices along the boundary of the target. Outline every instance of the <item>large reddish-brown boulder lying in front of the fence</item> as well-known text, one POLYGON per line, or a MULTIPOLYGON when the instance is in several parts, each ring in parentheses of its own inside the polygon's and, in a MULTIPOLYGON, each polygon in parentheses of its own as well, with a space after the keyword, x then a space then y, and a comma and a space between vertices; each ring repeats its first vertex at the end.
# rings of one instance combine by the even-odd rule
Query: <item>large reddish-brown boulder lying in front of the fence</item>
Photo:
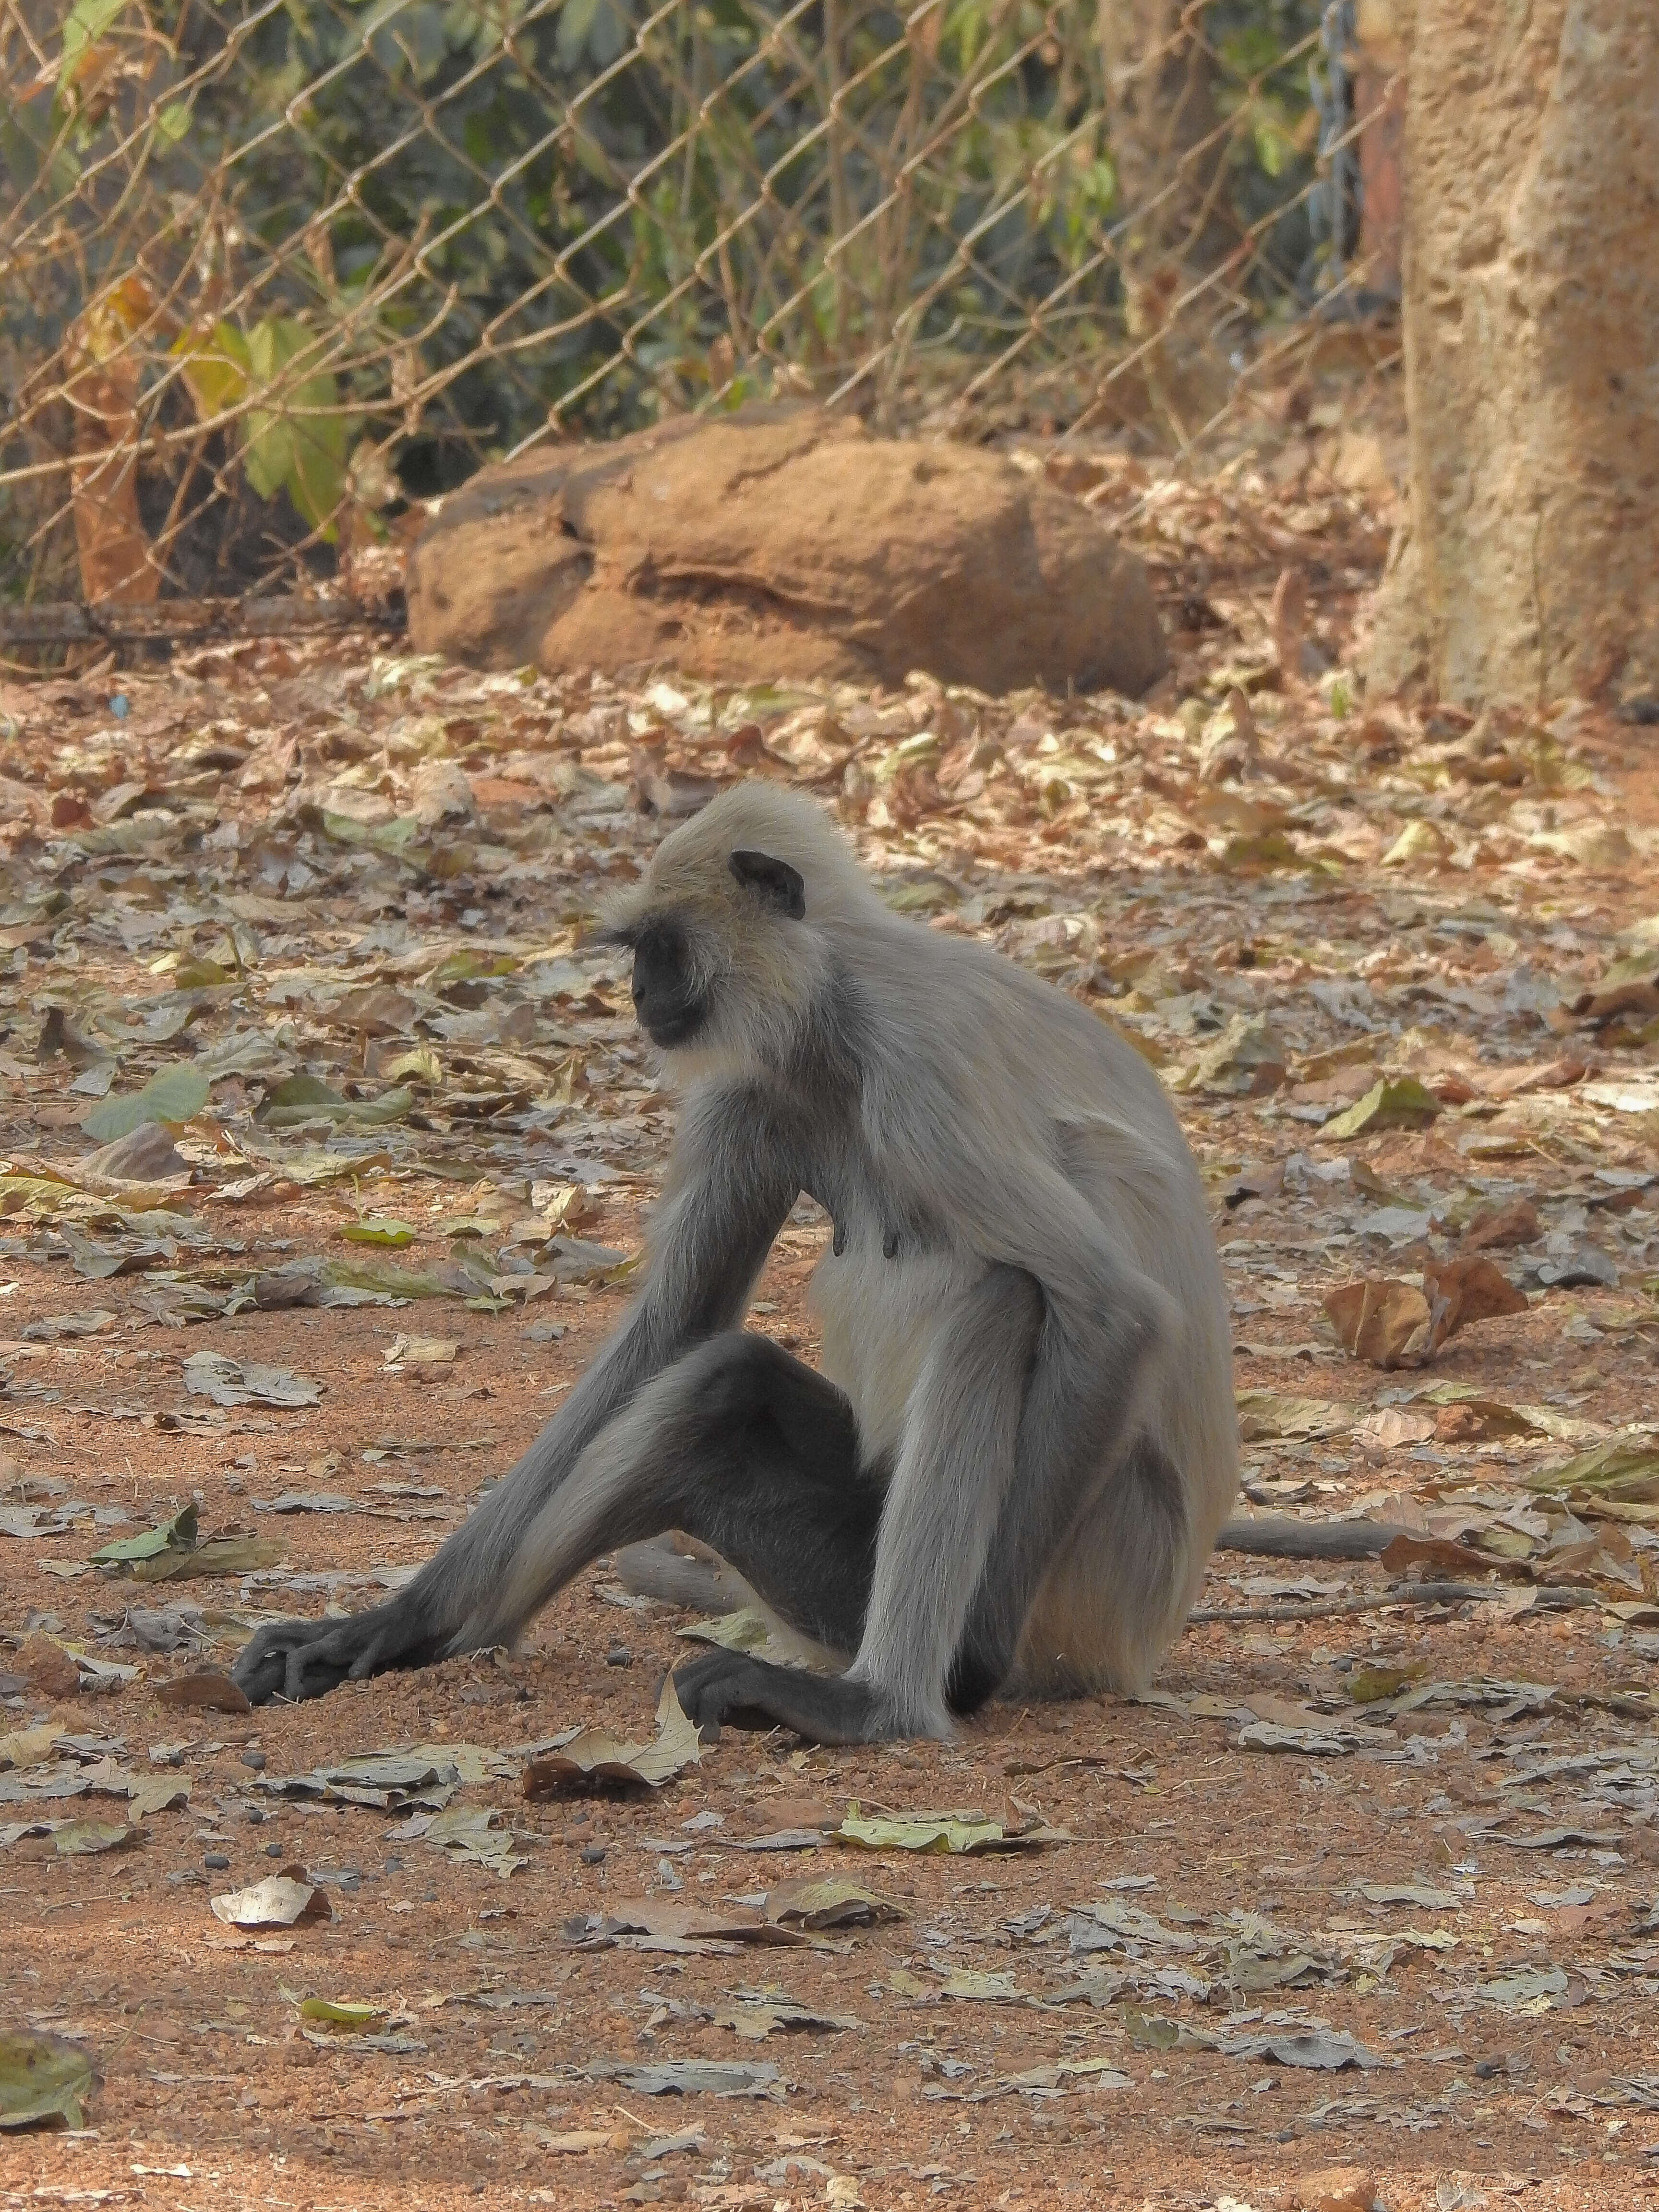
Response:
POLYGON ((987 692, 1144 692, 1144 566, 1000 453, 816 409, 664 422, 482 469, 409 560, 416 650, 714 684, 927 670, 987 692))

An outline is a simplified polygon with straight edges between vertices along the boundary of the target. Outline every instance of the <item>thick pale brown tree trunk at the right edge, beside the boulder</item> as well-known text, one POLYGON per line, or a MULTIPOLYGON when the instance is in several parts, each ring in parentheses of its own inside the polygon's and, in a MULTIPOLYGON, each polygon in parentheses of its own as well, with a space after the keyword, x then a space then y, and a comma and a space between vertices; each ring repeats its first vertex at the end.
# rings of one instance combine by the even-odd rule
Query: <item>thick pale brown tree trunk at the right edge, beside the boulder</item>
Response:
POLYGON ((1409 518, 1371 681, 1659 692, 1659 7, 1420 0, 1409 518))

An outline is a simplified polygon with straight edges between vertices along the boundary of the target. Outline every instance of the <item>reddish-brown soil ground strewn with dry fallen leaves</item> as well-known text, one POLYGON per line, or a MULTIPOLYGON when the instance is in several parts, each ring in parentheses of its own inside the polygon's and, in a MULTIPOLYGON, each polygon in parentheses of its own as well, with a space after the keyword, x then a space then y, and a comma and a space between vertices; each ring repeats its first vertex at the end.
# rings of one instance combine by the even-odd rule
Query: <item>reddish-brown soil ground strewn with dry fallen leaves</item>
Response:
MULTIPOLYGON (((1471 737, 1469 717, 1334 695, 1321 661, 1340 666, 1371 571, 1343 555, 1340 513, 1314 522, 1318 653, 1274 672, 1263 524, 1197 495, 1161 509, 1190 630, 1144 708, 927 686, 710 701, 279 646, 4 690, 0 1491, 75 1513, 0 1535, 0 1734, 51 1719, 77 1741, 0 1783, 108 1756, 177 1774, 190 1801, 131 1823, 122 1849, 0 1847, 0 2026, 69 2037, 100 2075, 82 2130, 4 2139, 0 2203, 1265 2212, 1321 2203, 1310 2177, 1338 2166, 1389 2212, 1646 2201, 1659 1506, 1639 1467, 1601 1504, 1577 1478, 1526 1484, 1597 1442, 1652 1453, 1650 1013, 1639 991, 1617 1013, 1590 1002, 1641 958, 1619 933, 1659 911, 1655 781, 1635 734, 1595 714, 1471 737), (1217 768, 1237 684, 1254 737, 1217 768), (690 1621, 630 1604, 606 1564, 513 1655, 252 1714, 157 1699, 223 1668, 259 1619, 367 1604, 427 1557, 615 1325, 626 1274, 544 1259, 560 1201, 540 1186, 588 1192, 584 1245, 637 1252, 672 1102, 622 971, 577 922, 659 834, 653 810, 737 772, 821 790, 891 896, 1033 962, 1161 1062, 1214 1192, 1250 1502, 1416 1509, 1427 1535, 1462 1511, 1478 1557, 1453 1579, 1475 1597, 1413 1601, 1376 1562, 1221 1553, 1199 1610, 1248 1619, 1190 1626, 1148 1703, 993 1705, 956 1743, 867 1752, 728 1734, 659 1792, 593 1798, 526 1801, 522 1747, 575 1723, 646 1736, 690 1621), (1385 865, 1413 823, 1431 834, 1385 865), (1261 1082, 1225 1053, 1201 1066, 1239 1015, 1274 1031, 1261 1082), (411 1051, 427 1073, 392 1073, 411 1051), (177 1139, 184 1181, 73 1183, 102 1079, 84 1075, 111 1057, 111 1097, 179 1060, 212 1073, 177 1139), (1522 1068, 1555 1073, 1506 1093, 1522 1068), (294 1073, 341 1099, 403 1082, 414 1106, 272 1126, 294 1073), (1400 1073, 1433 1091, 1429 1126, 1321 1135, 1400 1073), (51 1170, 71 1181, 33 1188, 51 1170), (1537 1237, 1493 1256, 1524 1314, 1427 1369, 1338 1347, 1327 1290, 1409 1276, 1517 1199, 1537 1237), (416 1232, 403 1250, 343 1237, 389 1217, 416 1232), (1540 1279, 1586 1243, 1601 1279, 1540 1279), (493 1292, 223 1310, 239 1285, 365 1250, 405 1270, 484 1252, 493 1292), (184 1318, 186 1292, 206 1318, 184 1318), (111 1318, 93 1334, 31 1334, 95 1310, 111 1318), (398 1334, 458 1352, 389 1363, 398 1334), (212 1405, 181 1365, 204 1347, 310 1378, 319 1400, 212 1405), (1460 1429, 1442 1420, 1455 1394, 1407 1396, 1425 1385, 1537 1420, 1460 1429), (1303 1400, 1325 1413, 1298 1429, 1303 1400), (257 1511, 288 1491, 347 1509, 257 1511), (86 1564, 192 1500, 204 1537, 279 1537, 285 1557, 166 1586, 86 1564), (1374 1610, 1338 1610, 1363 1597, 1374 1610), (173 1608, 181 1641, 146 1646, 135 1608, 173 1608), (42 1632, 137 1672, 51 1692, 20 1672, 42 1632), (1422 1701, 1378 1694, 1389 1679, 1422 1701), (403 1836, 396 1809, 257 1787, 403 1745, 511 1754, 456 1798, 498 1807, 511 1876, 403 1836), (863 1854, 823 1834, 849 1803, 1051 1840, 863 1854), (807 1840, 757 1847, 790 1829, 807 1840), (212 1916, 210 1896, 285 1865, 330 1920, 239 1933, 212 1916), (787 1949, 595 1947, 577 1920, 721 1907, 803 1871, 849 1874, 902 1918, 787 1949), (717 2020, 745 1991, 847 2024, 748 2037, 717 2020), (330 2033, 307 1997, 376 2022, 330 2033), (1252 2037, 1360 2064, 1223 2048, 1252 2037), (679 2059, 776 2075, 761 2095, 648 2095, 650 2077, 591 2070, 679 2059)), ((805 1356, 818 1237, 792 1225, 754 1314, 805 1356)), ((0 1803, 0 1827, 35 1816, 108 1823, 122 1801, 0 1803)))

